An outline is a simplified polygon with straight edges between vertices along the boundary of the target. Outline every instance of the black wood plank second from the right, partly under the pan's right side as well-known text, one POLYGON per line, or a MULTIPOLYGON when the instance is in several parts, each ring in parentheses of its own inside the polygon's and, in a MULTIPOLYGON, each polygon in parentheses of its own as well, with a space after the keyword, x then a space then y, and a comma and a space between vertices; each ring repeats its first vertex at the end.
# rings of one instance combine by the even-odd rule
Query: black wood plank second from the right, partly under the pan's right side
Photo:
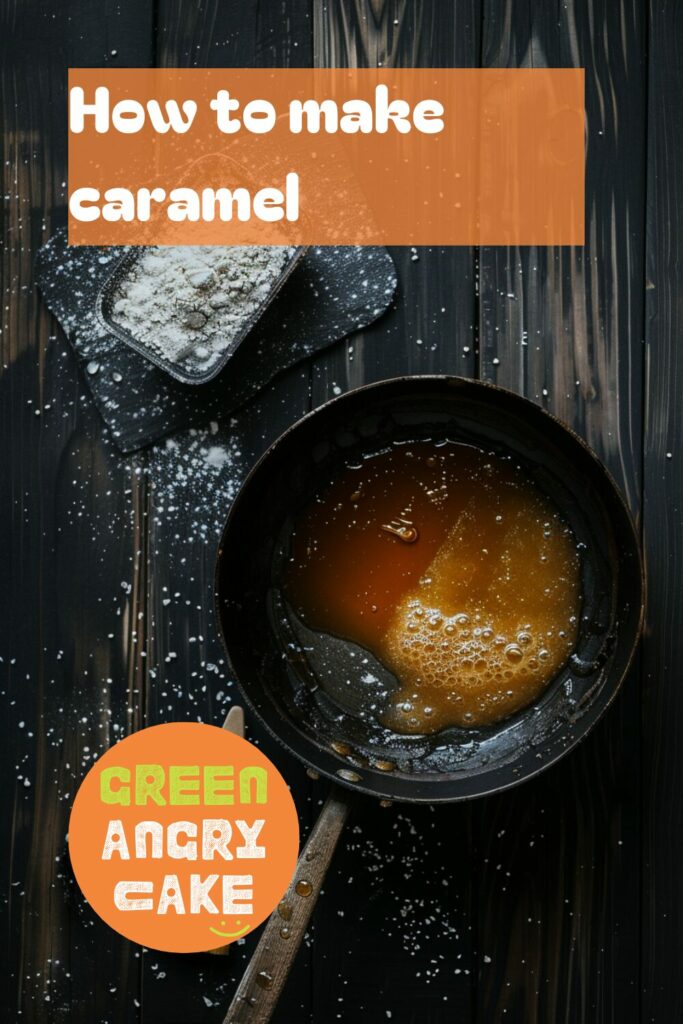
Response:
MULTIPOLYGON (((641 493, 646 26, 637 0, 484 0, 482 62, 586 68, 583 249, 481 253, 481 374, 570 423, 641 493)), ((479 808, 477 1020, 636 1021, 637 673, 594 735, 479 808)))

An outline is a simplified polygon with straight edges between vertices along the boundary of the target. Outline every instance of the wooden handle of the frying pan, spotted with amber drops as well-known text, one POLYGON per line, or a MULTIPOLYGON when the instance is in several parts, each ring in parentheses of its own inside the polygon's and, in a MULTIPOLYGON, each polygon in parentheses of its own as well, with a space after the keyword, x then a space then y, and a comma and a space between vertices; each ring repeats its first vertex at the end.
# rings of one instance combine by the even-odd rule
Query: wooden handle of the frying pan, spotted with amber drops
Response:
POLYGON ((290 887, 263 929, 223 1024, 267 1024, 270 1020, 308 927, 348 812, 345 794, 333 790, 299 855, 290 887))

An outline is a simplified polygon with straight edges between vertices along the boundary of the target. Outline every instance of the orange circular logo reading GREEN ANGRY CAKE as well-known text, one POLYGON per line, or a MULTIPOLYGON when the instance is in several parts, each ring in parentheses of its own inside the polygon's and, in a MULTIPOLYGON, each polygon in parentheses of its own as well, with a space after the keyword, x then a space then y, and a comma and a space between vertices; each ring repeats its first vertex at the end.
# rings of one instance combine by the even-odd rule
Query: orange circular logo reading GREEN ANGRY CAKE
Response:
POLYGON ((122 739, 86 775, 69 825, 76 880, 140 945, 199 952, 240 939, 278 905, 299 846, 287 784, 261 752, 182 722, 122 739))

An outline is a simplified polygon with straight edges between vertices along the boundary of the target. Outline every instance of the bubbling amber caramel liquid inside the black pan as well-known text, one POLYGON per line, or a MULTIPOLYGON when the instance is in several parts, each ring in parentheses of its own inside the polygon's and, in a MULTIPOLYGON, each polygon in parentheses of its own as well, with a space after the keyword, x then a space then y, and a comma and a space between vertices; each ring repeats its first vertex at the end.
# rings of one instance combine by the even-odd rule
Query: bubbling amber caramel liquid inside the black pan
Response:
POLYGON ((567 523, 512 457, 397 444, 349 465, 295 524, 285 583, 303 622, 395 676, 399 733, 490 725, 532 701, 577 639, 567 523))

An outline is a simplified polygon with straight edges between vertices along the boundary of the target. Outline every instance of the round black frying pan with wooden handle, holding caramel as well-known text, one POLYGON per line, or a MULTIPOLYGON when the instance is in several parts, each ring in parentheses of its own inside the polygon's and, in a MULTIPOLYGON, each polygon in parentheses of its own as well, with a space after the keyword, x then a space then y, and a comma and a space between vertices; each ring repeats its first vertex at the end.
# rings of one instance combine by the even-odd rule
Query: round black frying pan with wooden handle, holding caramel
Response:
MULTIPOLYGON (((502 388, 455 377, 384 381, 335 398, 271 445, 238 495, 216 572, 219 621, 244 697, 315 774, 328 799, 283 900, 265 927, 225 1024, 266 1022, 343 828, 346 791, 381 801, 442 803, 505 790, 570 751, 613 699, 643 613, 638 538, 607 470, 566 426, 502 388), (373 731, 353 651, 314 654, 288 626, 279 583, 296 514, 349 461, 394 441, 462 441, 513 453, 581 545, 582 615, 568 664, 530 707, 482 729, 434 736, 373 731), (343 678, 343 687, 334 680, 343 678)), ((319 645, 318 645, 319 646, 319 645)))

